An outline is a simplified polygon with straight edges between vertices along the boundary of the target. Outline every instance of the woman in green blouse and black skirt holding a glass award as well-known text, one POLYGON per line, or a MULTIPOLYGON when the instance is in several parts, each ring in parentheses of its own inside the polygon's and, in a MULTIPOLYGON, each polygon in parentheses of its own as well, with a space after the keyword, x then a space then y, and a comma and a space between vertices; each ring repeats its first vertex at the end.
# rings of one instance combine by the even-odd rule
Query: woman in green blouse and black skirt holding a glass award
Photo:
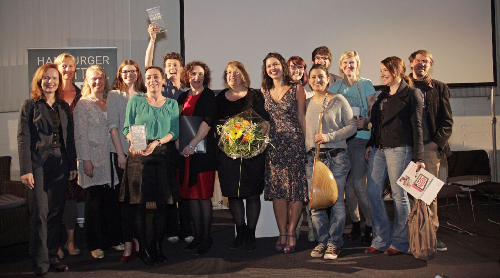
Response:
POLYGON ((167 261, 161 249, 166 208, 178 198, 172 158, 168 156, 166 144, 175 140, 179 132, 178 107, 173 99, 161 95, 161 87, 165 83, 165 73, 161 68, 147 67, 144 80, 147 92, 132 95, 126 107, 122 132, 132 146, 122 177, 120 201, 129 202, 132 208, 132 225, 142 262, 155 266, 158 262, 167 261), (145 125, 145 149, 133 148, 131 125, 145 125), (151 250, 146 241, 146 202, 156 203, 151 250))

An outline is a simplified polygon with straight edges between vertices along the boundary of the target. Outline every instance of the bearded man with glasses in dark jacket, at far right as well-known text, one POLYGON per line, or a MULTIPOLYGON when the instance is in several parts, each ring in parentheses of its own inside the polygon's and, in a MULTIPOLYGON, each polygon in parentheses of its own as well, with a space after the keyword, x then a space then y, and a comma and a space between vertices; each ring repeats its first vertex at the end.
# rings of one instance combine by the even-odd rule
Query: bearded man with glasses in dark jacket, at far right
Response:
MULTIPOLYGON (((412 71, 409 76, 413 79, 413 86, 422 91, 423 97, 422 130, 425 170, 438 177, 441 158, 451 154, 448 139, 451 135, 453 119, 449 104, 449 89, 445 83, 431 79, 429 70, 434 61, 432 54, 428 51, 416 50, 409 55, 408 59, 412 71)), ((433 213, 432 222, 437 233, 439 220, 437 219, 436 199, 432 201, 429 208, 433 213)), ((437 250, 447 250, 439 239, 437 239, 437 250)))

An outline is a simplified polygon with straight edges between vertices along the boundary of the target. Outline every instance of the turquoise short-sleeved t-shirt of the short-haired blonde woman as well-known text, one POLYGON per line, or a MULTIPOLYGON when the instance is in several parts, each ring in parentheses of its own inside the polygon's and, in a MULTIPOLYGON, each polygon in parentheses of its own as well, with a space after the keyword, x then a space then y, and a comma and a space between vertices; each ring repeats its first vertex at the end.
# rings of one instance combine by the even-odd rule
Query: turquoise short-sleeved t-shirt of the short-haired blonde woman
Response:
MULTIPOLYGON (((339 94, 343 95, 345 99, 347 99, 347 102, 349 103, 350 107, 360 107, 361 108, 361 116, 366 117, 368 113, 368 103, 366 102, 366 97, 369 95, 374 95, 375 94, 375 89, 373 88, 373 85, 371 84, 371 81, 359 77, 359 80, 357 80, 357 83, 359 84, 359 90, 361 90, 361 96, 362 100, 359 98, 359 90, 357 89, 356 83, 354 83, 352 86, 347 87, 345 84, 342 84, 343 79, 338 80, 337 82, 333 83, 330 88, 328 88, 329 92, 336 93, 338 91, 339 94), (338 88, 340 90, 338 90, 338 88), (361 104, 362 101, 362 104, 361 104), (364 105, 364 109, 363 109, 364 105)), ((363 138, 363 139, 370 139, 370 131, 369 130, 358 130, 356 133, 357 138, 363 138)))

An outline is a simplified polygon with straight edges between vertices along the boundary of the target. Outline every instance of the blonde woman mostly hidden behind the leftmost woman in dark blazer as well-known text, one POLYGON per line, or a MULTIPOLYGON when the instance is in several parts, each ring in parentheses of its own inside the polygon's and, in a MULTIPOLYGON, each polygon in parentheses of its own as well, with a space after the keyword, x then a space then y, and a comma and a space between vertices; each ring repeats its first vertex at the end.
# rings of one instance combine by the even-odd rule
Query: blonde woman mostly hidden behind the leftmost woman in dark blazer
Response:
MULTIPOLYGON (((69 53, 61 53, 54 59, 54 64, 57 66, 59 73, 62 76, 62 100, 69 104, 70 120, 73 123, 73 110, 76 103, 81 97, 80 88, 73 84, 73 77, 76 71, 76 60, 73 55, 69 53)), ((71 131, 69 140, 74 141, 74 132, 71 131)), ((66 202, 64 204, 64 227, 66 228, 67 241, 64 249, 67 250, 69 255, 78 255, 80 250, 74 244, 74 227, 76 225, 76 198, 83 197, 83 189, 78 186, 77 180, 73 179, 68 181, 66 189, 66 202)), ((57 250, 59 258, 64 258, 64 252, 57 250)))

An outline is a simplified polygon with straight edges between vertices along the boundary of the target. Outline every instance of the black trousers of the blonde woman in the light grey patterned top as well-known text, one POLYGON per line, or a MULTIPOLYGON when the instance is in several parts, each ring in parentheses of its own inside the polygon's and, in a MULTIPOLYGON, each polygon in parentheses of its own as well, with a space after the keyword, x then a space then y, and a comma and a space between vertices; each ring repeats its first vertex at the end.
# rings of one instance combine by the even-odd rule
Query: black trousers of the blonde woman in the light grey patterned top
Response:
POLYGON ((106 250, 121 243, 119 186, 94 185, 83 190, 85 233, 90 251, 106 250))

